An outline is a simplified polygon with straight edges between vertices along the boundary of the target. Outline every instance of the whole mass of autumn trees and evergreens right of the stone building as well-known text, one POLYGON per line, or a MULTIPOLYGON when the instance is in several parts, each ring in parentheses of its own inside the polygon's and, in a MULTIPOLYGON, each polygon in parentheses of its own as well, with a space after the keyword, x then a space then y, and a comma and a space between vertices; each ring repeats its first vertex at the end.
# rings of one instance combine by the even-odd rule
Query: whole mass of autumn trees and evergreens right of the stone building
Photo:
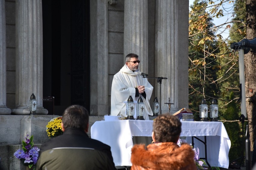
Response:
POLYGON ((239 42, 246 35, 245 1, 195 0, 190 8, 189 108, 194 112, 194 120, 199 121, 201 100, 205 98, 210 105, 215 98, 219 119, 227 120, 224 125, 231 141, 231 161, 243 154, 241 125, 236 121, 241 114, 237 101, 240 95, 238 53, 230 49, 230 43, 239 42), (225 8, 228 4, 233 5, 225 8), (229 13, 232 13, 229 21, 213 23, 214 18, 229 13), (229 30, 227 39, 218 33, 220 29, 229 30))

